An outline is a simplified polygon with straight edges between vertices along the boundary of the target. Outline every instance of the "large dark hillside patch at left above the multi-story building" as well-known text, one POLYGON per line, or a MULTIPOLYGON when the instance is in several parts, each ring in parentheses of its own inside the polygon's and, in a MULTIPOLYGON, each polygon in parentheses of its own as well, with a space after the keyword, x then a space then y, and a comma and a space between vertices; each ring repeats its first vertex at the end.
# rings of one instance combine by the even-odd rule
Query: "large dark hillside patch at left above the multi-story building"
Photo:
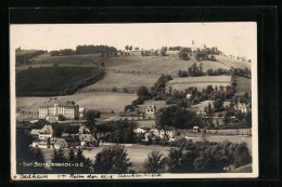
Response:
POLYGON ((73 94, 104 76, 99 68, 47 67, 16 74, 17 96, 54 96, 73 94))

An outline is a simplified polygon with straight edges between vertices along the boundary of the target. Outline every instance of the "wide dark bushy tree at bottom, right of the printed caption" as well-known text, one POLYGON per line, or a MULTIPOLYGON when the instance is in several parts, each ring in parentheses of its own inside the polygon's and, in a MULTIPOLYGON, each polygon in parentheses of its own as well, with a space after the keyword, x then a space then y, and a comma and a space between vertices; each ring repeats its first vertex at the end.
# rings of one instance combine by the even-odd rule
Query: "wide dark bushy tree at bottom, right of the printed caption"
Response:
POLYGON ((131 165, 123 146, 105 147, 95 156, 94 173, 126 173, 131 165))

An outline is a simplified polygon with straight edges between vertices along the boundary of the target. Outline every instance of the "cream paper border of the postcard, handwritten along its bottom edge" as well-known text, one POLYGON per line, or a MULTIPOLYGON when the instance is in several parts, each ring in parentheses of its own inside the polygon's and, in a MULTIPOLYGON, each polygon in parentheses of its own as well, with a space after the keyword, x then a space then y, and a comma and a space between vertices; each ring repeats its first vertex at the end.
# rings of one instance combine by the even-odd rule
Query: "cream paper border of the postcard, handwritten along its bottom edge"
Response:
MULTIPOLYGON (((220 23, 220 22, 218 22, 220 23)), ((221 22, 222 23, 222 22, 221 22)), ((227 22, 230 23, 230 22, 227 22)), ((257 23, 256 25, 257 39, 257 23)), ((78 24, 79 25, 79 24, 78 24)), ((41 179, 91 179, 88 178, 90 174, 77 174, 81 177, 74 177, 70 174, 16 174, 16 97, 15 97, 15 43, 13 42, 12 27, 10 25, 10 92, 11 92, 11 179, 12 181, 41 181, 41 179), (65 175, 65 176, 63 176, 65 175)), ((94 179, 162 179, 162 178, 255 178, 258 177, 258 90, 257 90, 257 40, 256 40, 256 55, 252 62, 252 173, 201 173, 201 174, 170 174, 165 173, 158 176, 157 174, 91 174, 97 176, 94 179)), ((93 178, 92 178, 93 179, 93 178)))

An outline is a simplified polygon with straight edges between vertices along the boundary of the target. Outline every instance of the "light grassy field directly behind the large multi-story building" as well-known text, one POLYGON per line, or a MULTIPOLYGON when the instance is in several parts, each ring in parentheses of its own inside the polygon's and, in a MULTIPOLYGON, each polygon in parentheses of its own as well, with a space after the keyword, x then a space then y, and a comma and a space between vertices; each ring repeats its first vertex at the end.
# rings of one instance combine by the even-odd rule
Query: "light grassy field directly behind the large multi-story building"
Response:
MULTIPOLYGON (((81 93, 67 96, 57 96, 57 102, 74 101, 79 106, 86 109, 98 109, 102 112, 119 112, 124 110, 126 105, 129 105, 137 98, 136 94, 123 93, 81 93)), ((16 108, 25 111, 38 111, 39 106, 43 102, 48 102, 50 97, 16 97, 16 108)))

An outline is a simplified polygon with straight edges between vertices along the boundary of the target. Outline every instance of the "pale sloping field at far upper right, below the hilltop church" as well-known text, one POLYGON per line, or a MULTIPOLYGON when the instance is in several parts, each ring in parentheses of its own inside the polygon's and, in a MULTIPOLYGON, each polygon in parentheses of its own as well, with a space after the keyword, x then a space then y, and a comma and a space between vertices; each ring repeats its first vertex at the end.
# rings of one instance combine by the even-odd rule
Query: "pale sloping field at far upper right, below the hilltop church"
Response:
POLYGON ((236 58, 227 57, 227 56, 216 55, 216 58, 217 58, 218 63, 223 63, 229 67, 233 66, 233 68, 251 69, 251 65, 252 65, 251 63, 243 62, 243 61, 236 59, 236 58))

